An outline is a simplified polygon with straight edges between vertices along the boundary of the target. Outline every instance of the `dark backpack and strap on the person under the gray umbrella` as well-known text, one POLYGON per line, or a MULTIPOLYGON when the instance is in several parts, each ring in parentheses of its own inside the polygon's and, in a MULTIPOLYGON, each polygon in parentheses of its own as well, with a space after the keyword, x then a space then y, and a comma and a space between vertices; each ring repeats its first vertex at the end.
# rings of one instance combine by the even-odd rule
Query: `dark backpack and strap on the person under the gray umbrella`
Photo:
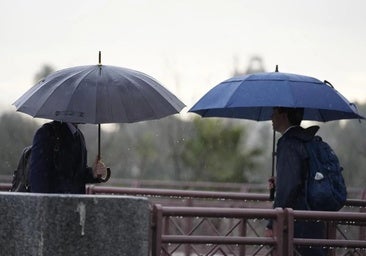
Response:
MULTIPOLYGON (((57 154, 60 148, 60 136, 58 128, 54 122, 46 124, 52 127, 53 134, 55 137, 54 152, 57 154)), ((30 192, 28 173, 29 173, 29 163, 32 154, 32 145, 27 146, 23 149, 20 159, 18 162, 17 169, 13 172, 13 181, 10 191, 13 192, 30 192)), ((56 157, 54 157, 56 159, 56 157)))

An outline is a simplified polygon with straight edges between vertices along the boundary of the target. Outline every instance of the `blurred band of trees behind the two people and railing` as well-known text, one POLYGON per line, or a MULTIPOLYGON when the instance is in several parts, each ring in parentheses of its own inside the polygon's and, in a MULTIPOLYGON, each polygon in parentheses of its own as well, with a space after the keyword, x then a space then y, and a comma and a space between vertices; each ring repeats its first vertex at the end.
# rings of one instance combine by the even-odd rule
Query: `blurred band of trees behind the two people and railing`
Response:
MULTIPOLYGON (((366 104, 359 105, 366 113, 366 104)), ((134 124, 102 125, 102 158, 114 178, 266 183, 271 170, 270 122, 171 116, 134 124)), ((0 116, 0 174, 11 176, 22 149, 46 120, 17 112, 0 116)), ((307 127, 314 123, 304 123, 307 127)), ((365 122, 319 124, 334 148, 348 186, 366 180, 365 122)), ((97 154, 97 126, 81 125, 89 163, 97 154)), ((279 135, 277 134, 277 137, 279 135)))

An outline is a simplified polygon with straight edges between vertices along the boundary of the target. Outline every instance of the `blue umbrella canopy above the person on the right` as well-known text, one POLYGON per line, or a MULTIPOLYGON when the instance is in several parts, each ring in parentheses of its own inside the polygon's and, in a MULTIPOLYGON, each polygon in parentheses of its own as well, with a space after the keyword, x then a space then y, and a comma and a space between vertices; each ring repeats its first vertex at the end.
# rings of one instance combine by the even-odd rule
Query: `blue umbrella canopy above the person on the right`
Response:
POLYGON ((328 82, 281 72, 230 78, 212 88, 190 110, 203 117, 271 120, 273 107, 304 108, 304 120, 363 119, 354 104, 328 82))

